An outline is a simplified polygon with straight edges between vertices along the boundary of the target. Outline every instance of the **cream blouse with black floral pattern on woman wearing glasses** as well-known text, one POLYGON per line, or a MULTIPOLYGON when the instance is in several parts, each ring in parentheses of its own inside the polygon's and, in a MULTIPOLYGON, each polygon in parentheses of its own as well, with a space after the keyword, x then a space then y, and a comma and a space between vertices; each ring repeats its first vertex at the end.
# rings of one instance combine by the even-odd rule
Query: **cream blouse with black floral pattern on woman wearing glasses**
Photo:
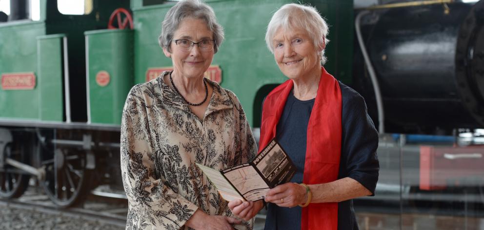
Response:
MULTIPOLYGON (((214 90, 203 120, 160 77, 134 86, 121 122, 121 173, 129 210, 126 230, 189 229, 197 209, 233 216, 195 165, 225 169, 252 160, 257 147, 241 103, 214 90)), ((243 222, 252 229, 253 220, 243 222)))

